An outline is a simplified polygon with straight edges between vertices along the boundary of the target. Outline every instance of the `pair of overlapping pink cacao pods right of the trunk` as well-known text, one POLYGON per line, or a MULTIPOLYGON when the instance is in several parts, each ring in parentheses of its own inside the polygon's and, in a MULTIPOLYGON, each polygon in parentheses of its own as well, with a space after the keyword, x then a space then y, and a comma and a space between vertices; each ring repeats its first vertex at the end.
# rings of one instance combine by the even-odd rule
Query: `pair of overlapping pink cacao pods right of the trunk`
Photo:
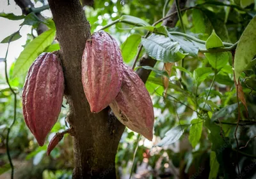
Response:
POLYGON ((118 44, 107 32, 95 32, 86 41, 82 82, 93 113, 110 106, 122 124, 152 140, 150 95, 140 77, 123 63, 118 44))

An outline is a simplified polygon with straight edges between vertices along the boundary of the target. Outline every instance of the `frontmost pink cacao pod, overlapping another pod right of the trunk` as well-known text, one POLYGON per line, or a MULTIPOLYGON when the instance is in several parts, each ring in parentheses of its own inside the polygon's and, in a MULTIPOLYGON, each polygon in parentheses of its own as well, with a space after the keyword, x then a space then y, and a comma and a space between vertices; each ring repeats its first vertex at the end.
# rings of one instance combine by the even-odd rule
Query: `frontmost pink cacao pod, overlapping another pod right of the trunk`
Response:
POLYGON ((107 32, 92 34, 86 41, 82 59, 84 94, 93 113, 106 108, 122 85, 122 54, 107 32))

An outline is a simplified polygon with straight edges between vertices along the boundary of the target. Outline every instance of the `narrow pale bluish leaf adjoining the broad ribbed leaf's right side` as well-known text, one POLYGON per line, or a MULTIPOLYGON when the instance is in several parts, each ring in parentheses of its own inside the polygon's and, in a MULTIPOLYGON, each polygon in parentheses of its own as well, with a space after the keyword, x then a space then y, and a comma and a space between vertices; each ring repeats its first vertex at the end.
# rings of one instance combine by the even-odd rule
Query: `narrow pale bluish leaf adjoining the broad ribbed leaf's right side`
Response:
POLYGON ((198 54, 198 47, 194 45, 192 41, 189 39, 183 37, 183 36, 173 36, 171 34, 168 34, 168 36, 173 40, 177 41, 180 45, 180 48, 183 50, 183 52, 189 54, 192 57, 197 57, 198 54))

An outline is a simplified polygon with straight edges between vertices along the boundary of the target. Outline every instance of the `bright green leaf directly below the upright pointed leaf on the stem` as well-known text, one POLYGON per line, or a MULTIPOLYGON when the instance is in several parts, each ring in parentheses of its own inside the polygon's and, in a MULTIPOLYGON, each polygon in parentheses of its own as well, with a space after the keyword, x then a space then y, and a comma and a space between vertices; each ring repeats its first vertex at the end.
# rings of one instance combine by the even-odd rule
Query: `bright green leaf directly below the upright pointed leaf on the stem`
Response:
POLYGON ((205 57, 215 69, 223 68, 228 62, 227 52, 205 53, 205 57))

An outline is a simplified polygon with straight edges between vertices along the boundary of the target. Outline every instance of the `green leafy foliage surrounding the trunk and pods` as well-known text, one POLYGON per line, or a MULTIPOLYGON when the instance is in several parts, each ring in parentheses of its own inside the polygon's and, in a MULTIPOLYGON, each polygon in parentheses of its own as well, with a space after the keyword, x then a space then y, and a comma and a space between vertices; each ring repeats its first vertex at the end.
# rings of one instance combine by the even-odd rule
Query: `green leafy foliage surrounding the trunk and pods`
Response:
MULTIPOLYGON (((122 2, 96 1, 94 9, 85 8, 91 31, 104 29, 115 36, 125 63, 131 65, 134 61, 138 45, 143 45, 138 57, 147 52, 157 60, 154 68, 139 67, 152 69, 146 87, 154 102, 154 140, 141 138, 137 143, 136 133, 129 129, 124 132, 116 155, 116 164, 122 168, 120 175, 127 175, 131 170, 136 173, 139 167, 146 166, 143 169, 148 178, 167 175, 172 168, 180 171, 172 173, 173 177, 253 178, 256 166, 255 1, 189 1, 187 5, 191 8, 182 11, 182 20, 173 29, 154 24, 162 18, 159 10, 164 9, 164 1, 122 2), (186 33, 181 32, 181 24, 186 33), (172 72, 167 73, 163 66, 170 62, 175 63, 172 72), (168 76, 168 87, 163 83, 164 76, 168 76), (137 145, 135 165, 131 168, 137 145)), ((24 18, 20 25, 31 25, 31 29, 40 23, 49 27, 26 44, 10 68, 10 84, 20 94, 24 74, 36 56, 60 49, 53 40, 56 29, 51 19, 38 20, 34 13, 27 16, 0 13, 0 17, 24 18)), ((17 29, 1 43, 19 38, 17 29)), ((34 166, 44 166, 44 178, 70 178, 71 139, 65 136, 54 148, 51 157, 58 161, 54 168, 58 171, 49 170, 44 164, 47 147, 36 145, 24 124, 20 95, 17 101, 17 121, 9 139, 11 156, 32 160, 34 166)), ((0 76, 0 146, 3 148, 13 110, 12 91, 4 76, 0 76)), ((68 128, 67 111, 64 101, 59 122, 49 139, 68 128)), ((6 155, 3 163, 0 173, 10 169, 6 155)))

